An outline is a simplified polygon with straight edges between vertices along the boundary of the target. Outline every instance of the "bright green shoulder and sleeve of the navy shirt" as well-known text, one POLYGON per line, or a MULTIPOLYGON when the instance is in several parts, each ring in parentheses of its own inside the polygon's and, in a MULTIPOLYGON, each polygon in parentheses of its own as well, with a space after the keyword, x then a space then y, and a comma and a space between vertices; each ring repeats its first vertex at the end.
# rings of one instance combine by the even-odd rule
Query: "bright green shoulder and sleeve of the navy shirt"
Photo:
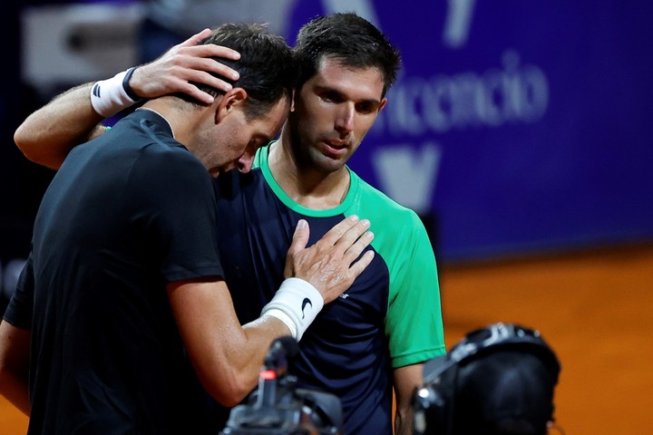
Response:
POLYGON ((390 274, 385 318, 393 367, 425 362, 445 352, 434 250, 422 220, 350 171, 348 214, 371 222, 372 246, 390 274))

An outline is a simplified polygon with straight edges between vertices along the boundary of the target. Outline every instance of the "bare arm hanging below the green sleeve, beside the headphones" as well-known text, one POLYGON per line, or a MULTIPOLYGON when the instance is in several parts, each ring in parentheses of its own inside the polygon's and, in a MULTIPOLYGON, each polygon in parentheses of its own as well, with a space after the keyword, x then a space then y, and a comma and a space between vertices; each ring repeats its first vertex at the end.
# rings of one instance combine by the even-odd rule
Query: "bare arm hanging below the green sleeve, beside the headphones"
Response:
POLYGON ((413 433, 413 395, 415 389, 424 382, 422 372, 424 364, 406 365, 393 372, 396 413, 395 435, 413 433))

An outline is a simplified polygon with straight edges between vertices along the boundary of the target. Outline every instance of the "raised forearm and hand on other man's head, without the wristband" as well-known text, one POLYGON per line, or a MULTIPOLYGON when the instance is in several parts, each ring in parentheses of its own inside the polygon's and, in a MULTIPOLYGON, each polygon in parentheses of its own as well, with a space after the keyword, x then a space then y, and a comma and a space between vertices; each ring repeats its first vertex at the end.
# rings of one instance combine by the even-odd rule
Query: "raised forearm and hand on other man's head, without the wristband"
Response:
MULTIPOLYGON (((130 80, 133 92, 141 98, 184 92, 200 102, 210 103, 213 97, 190 82, 229 91, 231 85, 211 73, 231 79, 238 78, 238 73, 210 57, 238 59, 239 53, 215 44, 198 45, 209 34, 210 30, 205 29, 173 46, 159 59, 139 66, 130 80)), ((15 131, 14 141, 27 159, 59 169, 76 145, 105 131, 98 125, 102 115, 91 105, 92 87, 93 83, 89 82, 63 92, 23 121, 15 131)))

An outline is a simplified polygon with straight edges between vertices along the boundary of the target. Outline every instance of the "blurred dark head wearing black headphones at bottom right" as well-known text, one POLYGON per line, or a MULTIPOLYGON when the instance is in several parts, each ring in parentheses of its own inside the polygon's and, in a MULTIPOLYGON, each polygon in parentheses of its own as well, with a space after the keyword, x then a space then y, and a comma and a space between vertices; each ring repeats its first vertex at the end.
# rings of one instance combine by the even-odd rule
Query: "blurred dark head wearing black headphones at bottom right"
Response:
POLYGON ((424 364, 414 435, 546 433, 560 362, 539 331, 491 324, 424 364))

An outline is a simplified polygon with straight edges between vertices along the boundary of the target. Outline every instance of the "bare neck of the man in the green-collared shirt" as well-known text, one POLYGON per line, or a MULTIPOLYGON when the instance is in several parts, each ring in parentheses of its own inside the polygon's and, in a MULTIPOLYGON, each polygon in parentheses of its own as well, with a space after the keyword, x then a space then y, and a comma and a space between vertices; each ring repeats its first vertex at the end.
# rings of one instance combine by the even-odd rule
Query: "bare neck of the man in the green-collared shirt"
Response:
POLYGON ((279 187, 297 204, 315 210, 336 208, 349 190, 346 167, 325 173, 302 164, 293 151, 290 138, 281 138, 269 150, 268 163, 279 187))

